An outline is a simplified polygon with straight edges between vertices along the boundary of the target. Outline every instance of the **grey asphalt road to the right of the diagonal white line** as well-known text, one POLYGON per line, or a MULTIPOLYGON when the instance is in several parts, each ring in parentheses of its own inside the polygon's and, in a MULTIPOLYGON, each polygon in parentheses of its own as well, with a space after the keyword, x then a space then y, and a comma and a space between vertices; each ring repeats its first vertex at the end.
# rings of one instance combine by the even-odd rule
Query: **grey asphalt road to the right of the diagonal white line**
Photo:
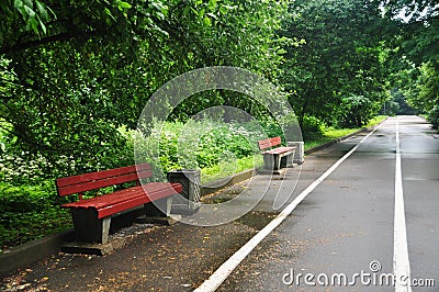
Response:
MULTIPOLYGON (((362 138, 348 139, 317 156, 339 157, 362 138)), ((410 291, 404 284, 393 285, 395 257, 399 268, 409 267, 410 278, 404 281, 413 283, 412 291, 439 291, 438 138, 420 117, 385 121, 250 252, 218 291, 410 291), (395 222, 398 150, 405 212, 395 222), (404 220, 406 243, 404 234, 394 232, 404 220)), ((299 187, 295 194, 302 190, 299 187)))

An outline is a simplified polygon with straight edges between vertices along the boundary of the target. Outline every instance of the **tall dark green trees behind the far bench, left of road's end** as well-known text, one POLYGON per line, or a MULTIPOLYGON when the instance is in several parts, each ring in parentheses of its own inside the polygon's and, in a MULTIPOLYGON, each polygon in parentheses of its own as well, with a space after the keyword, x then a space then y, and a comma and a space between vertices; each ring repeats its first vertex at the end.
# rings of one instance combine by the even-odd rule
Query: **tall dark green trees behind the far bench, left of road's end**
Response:
POLYGON ((290 3, 283 34, 289 46, 283 83, 302 124, 313 115, 327 124, 361 126, 381 108, 387 89, 391 25, 372 1, 303 0, 290 3))

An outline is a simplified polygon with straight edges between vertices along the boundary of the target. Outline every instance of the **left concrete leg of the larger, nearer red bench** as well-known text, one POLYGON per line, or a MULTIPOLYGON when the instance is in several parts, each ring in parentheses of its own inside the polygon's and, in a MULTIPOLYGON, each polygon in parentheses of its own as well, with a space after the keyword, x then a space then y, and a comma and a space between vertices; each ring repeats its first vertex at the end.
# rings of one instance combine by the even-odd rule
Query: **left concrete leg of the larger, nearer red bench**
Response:
POLYGON ((70 209, 70 212, 78 242, 106 244, 111 216, 98 218, 94 209, 70 209))

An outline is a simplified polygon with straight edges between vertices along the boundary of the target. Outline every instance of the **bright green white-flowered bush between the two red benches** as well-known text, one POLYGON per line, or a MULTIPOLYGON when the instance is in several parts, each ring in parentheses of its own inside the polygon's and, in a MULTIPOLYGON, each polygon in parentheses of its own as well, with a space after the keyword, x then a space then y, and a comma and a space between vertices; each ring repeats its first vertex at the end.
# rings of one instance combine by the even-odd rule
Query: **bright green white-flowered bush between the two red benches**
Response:
MULTIPOLYGON (((275 135, 272 124, 266 124, 267 136, 275 135)), ((125 131, 130 144, 136 144, 138 156, 156 167, 169 171, 176 168, 205 168, 219 162, 222 157, 243 158, 258 151, 257 141, 264 138, 263 126, 255 123, 221 123, 215 121, 166 122, 155 125, 143 137, 136 131, 125 131), (159 165, 156 162, 159 157, 159 165)))

